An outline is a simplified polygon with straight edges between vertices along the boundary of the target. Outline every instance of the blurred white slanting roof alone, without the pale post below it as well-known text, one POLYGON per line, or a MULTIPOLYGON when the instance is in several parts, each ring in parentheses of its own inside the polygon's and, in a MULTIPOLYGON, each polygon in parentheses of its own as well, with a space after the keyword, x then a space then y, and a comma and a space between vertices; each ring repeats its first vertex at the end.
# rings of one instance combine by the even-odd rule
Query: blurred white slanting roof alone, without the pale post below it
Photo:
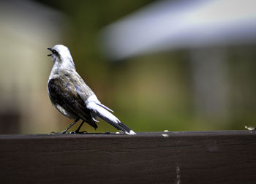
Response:
POLYGON ((106 55, 132 55, 256 42, 256 1, 162 0, 102 30, 106 55))

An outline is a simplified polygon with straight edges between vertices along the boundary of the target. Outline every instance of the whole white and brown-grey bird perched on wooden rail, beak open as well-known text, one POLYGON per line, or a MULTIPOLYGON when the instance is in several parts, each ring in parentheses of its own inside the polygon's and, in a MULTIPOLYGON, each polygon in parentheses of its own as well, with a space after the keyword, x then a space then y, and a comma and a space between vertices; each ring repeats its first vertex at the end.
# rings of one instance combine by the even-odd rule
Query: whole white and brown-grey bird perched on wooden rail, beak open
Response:
POLYGON ((61 114, 75 120, 67 129, 61 131, 61 134, 65 134, 78 120, 83 121, 75 133, 80 133, 80 127, 84 122, 97 129, 98 117, 125 134, 136 134, 110 113, 113 110, 100 103, 91 88, 76 72, 75 64, 67 47, 55 45, 48 50, 51 51, 48 56, 53 58, 53 69, 48 80, 48 95, 53 106, 61 114))

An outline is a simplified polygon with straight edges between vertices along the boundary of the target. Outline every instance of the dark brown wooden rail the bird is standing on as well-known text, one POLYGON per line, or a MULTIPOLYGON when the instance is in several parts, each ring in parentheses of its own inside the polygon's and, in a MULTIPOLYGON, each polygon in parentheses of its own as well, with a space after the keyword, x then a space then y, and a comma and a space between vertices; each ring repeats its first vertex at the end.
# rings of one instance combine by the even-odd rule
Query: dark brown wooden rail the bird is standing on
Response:
POLYGON ((256 183, 249 131, 1 135, 0 147, 0 183, 256 183))

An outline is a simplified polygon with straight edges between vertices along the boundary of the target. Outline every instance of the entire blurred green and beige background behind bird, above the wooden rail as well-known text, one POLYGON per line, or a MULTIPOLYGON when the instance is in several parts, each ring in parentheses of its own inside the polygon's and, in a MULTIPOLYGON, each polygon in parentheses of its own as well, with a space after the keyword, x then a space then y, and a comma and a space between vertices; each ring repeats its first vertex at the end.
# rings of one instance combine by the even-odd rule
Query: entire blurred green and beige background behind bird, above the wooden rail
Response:
MULTIPOLYGON (((134 131, 256 126, 256 2, 0 1, 0 134, 62 131, 48 47, 134 131)), ((117 131, 104 121, 95 131, 117 131)), ((75 128, 77 128, 76 125, 75 128)))

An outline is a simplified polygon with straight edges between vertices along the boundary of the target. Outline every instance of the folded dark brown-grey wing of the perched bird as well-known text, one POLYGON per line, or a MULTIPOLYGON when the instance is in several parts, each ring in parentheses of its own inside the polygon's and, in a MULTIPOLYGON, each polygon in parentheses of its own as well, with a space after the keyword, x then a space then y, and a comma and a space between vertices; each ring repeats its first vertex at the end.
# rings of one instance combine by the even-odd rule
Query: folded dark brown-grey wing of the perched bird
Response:
POLYGON ((50 100, 53 104, 59 104, 67 112, 85 120, 86 123, 97 129, 97 124, 92 119, 91 112, 86 107, 85 101, 77 92, 75 84, 66 79, 63 80, 56 77, 49 80, 48 91, 50 100))

